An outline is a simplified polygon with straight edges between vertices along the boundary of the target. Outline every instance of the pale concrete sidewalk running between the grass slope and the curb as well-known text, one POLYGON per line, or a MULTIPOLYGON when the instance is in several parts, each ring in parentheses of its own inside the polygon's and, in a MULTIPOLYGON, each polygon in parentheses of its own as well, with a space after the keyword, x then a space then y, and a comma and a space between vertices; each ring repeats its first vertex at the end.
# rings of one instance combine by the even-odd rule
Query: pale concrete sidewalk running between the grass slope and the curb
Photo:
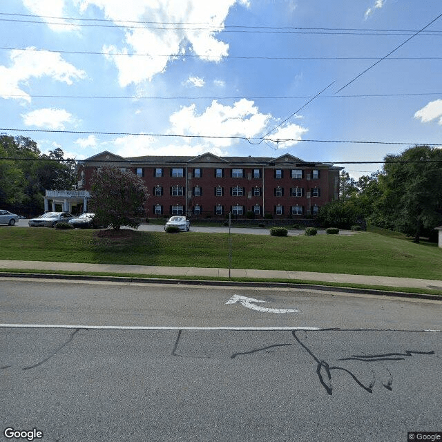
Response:
MULTIPOLYGON (((229 277, 229 269, 201 269, 198 267, 160 267, 143 265, 115 265, 115 264, 88 264, 79 262, 48 262, 48 261, 14 261, 0 260, 0 269, 26 269, 45 271, 73 271, 90 273, 135 273, 150 276, 202 276, 202 277, 229 277)), ((309 280, 317 282, 345 282, 349 284, 364 284, 372 286, 403 287, 414 289, 442 290, 441 280, 425 280, 414 278, 394 278, 390 276, 363 276, 345 275, 340 273, 316 273, 311 271, 285 270, 253 270, 231 269, 232 278, 260 279, 288 279, 309 280)))

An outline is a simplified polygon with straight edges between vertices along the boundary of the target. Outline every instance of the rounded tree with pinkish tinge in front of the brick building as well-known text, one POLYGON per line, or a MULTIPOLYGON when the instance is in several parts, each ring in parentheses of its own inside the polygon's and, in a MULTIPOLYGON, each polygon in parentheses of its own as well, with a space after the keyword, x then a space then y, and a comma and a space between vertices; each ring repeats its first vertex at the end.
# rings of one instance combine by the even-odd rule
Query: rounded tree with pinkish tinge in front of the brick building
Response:
POLYGON ((111 224, 114 230, 138 227, 146 217, 147 198, 144 181, 131 171, 105 166, 92 177, 89 206, 102 224, 111 224))

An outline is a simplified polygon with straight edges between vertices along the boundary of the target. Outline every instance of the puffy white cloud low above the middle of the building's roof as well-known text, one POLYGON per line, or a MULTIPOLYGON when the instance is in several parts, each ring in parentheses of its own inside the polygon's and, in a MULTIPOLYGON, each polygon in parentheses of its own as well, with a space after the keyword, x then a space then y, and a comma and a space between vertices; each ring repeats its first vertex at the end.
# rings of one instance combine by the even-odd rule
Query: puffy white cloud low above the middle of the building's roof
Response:
MULTIPOLYGON (((233 106, 224 106, 216 100, 198 115, 195 104, 184 106, 170 117, 170 133, 183 135, 211 135, 220 137, 255 137, 264 130, 271 115, 262 114, 253 101, 240 99, 233 106)), ((231 139, 206 138, 213 146, 227 147, 231 139)))

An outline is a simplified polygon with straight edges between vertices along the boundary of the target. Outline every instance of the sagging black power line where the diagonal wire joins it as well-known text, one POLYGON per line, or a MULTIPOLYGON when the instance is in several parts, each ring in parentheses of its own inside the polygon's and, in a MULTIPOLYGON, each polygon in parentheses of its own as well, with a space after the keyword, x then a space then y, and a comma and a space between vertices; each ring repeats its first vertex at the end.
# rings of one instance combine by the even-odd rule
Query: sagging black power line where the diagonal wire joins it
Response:
MULTIPOLYGON (((385 142, 385 141, 363 141, 363 140, 301 140, 299 138, 262 138, 262 137, 240 137, 232 135, 184 135, 184 134, 170 134, 170 133, 134 133, 134 132, 104 132, 104 131, 62 131, 59 129, 18 129, 18 128, 0 128, 0 131, 5 132, 35 132, 35 133, 71 133, 77 135, 118 135, 118 136, 143 136, 143 137, 179 137, 179 138, 209 138, 220 140, 244 140, 250 144, 260 144, 263 141, 270 142, 315 142, 315 143, 352 143, 352 144, 396 144, 402 146, 441 146, 441 143, 427 143, 427 142, 385 142), (251 140, 256 140, 254 143, 251 140)), ((0 132, 1 133, 1 132, 0 132)))

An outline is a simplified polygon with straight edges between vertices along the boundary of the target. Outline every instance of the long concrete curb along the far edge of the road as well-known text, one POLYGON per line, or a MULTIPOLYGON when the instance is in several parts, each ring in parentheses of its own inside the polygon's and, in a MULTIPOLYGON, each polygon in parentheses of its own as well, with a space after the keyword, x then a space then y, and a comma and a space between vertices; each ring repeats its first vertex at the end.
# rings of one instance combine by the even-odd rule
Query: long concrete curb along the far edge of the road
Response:
POLYGON ((352 287, 334 287, 329 285, 316 284, 297 284, 296 282, 242 282, 242 281, 217 281, 217 280, 187 280, 176 278, 131 278, 127 276, 96 276, 96 275, 64 275, 57 273, 15 273, 15 272, 0 272, 1 277, 8 278, 39 278, 39 279, 62 279, 62 280, 84 280, 84 281, 108 281, 108 282, 137 282, 141 284, 185 284, 185 285, 206 285, 206 286, 222 286, 222 287, 291 287, 294 289, 314 289, 323 291, 336 291, 349 294, 367 294, 377 296, 393 296, 396 298, 407 299, 425 299, 442 301, 442 296, 430 294, 416 294, 401 291, 385 291, 375 289, 356 289, 352 287))

